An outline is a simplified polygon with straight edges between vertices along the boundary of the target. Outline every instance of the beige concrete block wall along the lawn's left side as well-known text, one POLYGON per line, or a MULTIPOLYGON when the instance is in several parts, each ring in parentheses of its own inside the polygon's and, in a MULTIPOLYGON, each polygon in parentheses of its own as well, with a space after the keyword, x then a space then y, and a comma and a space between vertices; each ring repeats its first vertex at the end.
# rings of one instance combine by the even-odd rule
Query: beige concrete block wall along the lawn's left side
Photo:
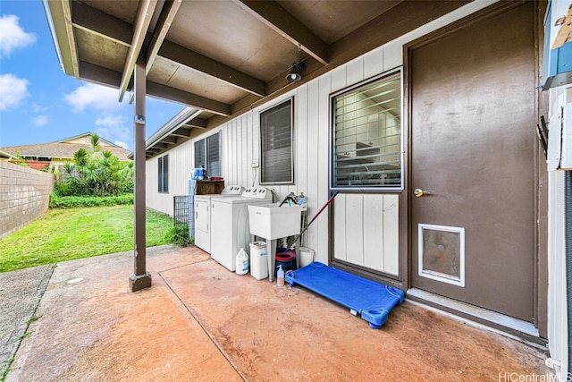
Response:
POLYGON ((0 239, 46 212, 54 184, 54 174, 0 160, 0 239))

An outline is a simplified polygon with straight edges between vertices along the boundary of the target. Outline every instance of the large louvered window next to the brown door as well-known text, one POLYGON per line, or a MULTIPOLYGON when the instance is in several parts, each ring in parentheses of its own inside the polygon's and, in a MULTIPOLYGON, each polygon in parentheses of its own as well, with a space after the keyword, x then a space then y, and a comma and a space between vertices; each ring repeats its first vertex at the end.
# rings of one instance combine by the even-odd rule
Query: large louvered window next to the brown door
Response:
POLYGON ((400 72, 333 95, 331 101, 332 188, 400 188, 400 72))

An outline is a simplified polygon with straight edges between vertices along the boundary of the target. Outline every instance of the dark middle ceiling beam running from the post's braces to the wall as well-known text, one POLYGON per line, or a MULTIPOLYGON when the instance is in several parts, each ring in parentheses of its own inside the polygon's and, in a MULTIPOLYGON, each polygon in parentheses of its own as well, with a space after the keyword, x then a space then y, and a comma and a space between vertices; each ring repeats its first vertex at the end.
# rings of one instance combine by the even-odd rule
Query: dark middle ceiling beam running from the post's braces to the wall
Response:
POLYGON ((260 97, 265 97, 266 95, 266 84, 264 81, 232 69, 230 66, 221 64, 171 41, 164 41, 163 46, 159 49, 159 55, 175 63, 195 69, 198 72, 206 73, 254 95, 260 97))

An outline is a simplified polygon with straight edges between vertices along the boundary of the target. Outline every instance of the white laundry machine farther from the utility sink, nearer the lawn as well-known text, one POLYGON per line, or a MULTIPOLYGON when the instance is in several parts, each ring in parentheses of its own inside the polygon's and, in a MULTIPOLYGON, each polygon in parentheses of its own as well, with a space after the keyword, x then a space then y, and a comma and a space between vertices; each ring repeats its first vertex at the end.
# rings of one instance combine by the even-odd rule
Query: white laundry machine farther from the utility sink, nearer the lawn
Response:
POLYGON ((211 252, 211 200, 240 196, 242 186, 226 186, 221 193, 195 195, 195 245, 207 253, 211 252))

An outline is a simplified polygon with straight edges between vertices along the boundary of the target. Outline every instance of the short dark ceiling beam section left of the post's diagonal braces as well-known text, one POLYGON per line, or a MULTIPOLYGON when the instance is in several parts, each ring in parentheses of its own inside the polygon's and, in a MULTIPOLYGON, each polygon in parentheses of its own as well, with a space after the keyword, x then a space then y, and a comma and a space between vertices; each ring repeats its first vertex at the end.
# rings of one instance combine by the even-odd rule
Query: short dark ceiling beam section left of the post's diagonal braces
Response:
POLYGON ((131 45, 133 26, 107 13, 103 13, 86 4, 73 3, 73 26, 87 30, 126 47, 131 45))

